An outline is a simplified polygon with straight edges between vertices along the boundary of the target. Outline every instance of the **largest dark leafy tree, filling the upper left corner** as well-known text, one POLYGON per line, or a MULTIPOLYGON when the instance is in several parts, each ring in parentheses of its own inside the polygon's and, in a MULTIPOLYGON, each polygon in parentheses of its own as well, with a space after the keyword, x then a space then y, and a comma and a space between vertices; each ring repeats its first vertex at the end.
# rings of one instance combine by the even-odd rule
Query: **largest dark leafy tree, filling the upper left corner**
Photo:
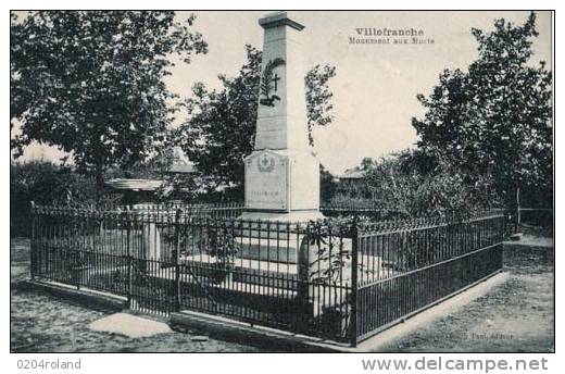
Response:
MULTIPOLYGON (((11 14, 10 119, 21 134, 16 155, 32 141, 72 153, 96 176, 145 159, 163 141, 177 110, 164 77, 208 46, 190 30, 194 15, 174 12, 40 11, 11 14)), ((99 194, 98 194, 99 195, 99 194)))

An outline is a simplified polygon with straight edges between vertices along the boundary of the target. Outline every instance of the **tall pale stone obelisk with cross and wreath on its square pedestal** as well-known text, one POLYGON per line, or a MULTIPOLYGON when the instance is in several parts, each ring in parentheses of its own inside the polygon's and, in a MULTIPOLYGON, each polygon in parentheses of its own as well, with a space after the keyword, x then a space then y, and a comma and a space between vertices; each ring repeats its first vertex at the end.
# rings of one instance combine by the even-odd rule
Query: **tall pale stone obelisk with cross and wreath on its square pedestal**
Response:
POLYGON ((305 222, 319 213, 319 162, 307 141, 300 32, 286 12, 263 16, 263 63, 242 219, 305 222))

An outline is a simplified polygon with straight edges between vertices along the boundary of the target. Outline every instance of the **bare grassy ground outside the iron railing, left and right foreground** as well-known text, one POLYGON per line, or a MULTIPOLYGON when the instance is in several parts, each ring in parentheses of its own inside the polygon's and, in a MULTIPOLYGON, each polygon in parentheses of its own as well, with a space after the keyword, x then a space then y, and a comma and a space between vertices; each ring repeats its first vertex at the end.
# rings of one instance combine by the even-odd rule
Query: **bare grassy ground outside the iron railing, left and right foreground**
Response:
MULTIPOLYGON (((554 350, 553 258, 545 238, 525 237, 505 250, 508 282, 461 310, 398 341, 391 351, 554 350)), ((29 242, 11 240, 12 283, 28 274, 29 242)), ((52 297, 11 290, 12 351, 176 351, 256 352, 260 348, 203 339, 196 334, 170 333, 146 338, 92 332, 88 324, 103 315, 52 297), (38 312, 40 311, 40 312, 38 312), (200 341, 204 340, 204 341, 200 341)), ((152 316, 153 319, 156 319, 152 316)))

